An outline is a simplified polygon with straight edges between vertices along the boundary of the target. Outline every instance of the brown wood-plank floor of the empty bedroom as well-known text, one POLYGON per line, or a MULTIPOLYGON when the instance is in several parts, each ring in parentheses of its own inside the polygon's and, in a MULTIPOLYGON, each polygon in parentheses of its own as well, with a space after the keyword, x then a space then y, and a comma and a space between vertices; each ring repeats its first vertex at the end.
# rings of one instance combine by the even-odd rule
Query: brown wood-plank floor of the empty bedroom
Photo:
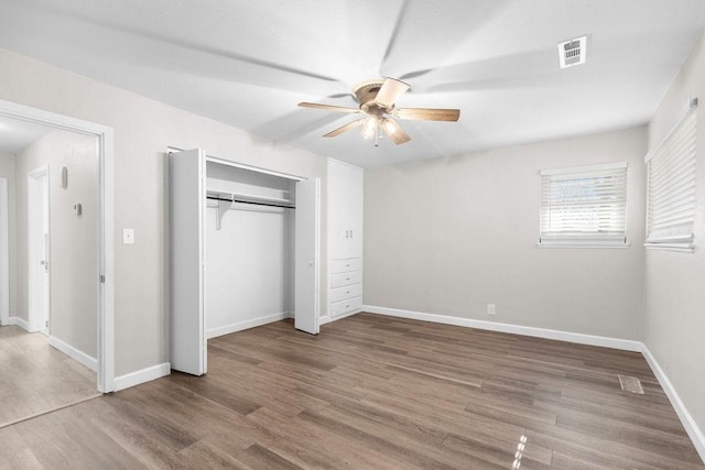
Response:
POLYGON ((704 468, 639 353, 369 314, 208 353, 206 376, 0 429, 0 467, 704 468))

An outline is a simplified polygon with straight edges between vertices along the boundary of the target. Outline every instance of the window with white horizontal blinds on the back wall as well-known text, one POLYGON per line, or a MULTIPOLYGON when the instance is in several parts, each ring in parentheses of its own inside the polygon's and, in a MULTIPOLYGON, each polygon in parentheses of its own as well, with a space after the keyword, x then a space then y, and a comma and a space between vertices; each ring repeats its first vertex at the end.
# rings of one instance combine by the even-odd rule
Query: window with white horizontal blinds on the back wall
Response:
POLYGON ((541 172, 539 245, 627 247, 627 162, 541 172))

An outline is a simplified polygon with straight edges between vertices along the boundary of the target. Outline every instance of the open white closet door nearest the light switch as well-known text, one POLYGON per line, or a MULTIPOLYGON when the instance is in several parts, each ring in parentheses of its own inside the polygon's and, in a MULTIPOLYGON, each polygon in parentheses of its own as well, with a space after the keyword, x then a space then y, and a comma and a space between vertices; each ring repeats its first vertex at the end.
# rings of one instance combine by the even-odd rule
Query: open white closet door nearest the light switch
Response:
POLYGON ((170 157, 171 365, 206 373, 204 330, 205 155, 189 150, 170 157))

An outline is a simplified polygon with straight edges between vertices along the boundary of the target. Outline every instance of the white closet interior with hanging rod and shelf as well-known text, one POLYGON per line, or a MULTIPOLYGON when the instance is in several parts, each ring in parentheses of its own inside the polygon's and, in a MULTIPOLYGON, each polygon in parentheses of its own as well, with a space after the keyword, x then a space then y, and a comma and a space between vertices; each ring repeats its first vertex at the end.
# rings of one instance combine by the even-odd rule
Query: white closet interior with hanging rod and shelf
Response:
POLYGON ((208 161, 206 192, 206 337, 292 316, 295 182, 208 161))

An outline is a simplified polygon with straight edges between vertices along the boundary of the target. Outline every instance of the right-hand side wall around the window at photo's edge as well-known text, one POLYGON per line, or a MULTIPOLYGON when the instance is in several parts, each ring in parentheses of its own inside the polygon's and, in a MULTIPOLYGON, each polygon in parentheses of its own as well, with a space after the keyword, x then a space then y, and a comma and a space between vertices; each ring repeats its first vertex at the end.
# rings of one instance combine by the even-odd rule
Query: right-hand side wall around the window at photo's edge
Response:
POLYGON ((675 123, 690 98, 697 110, 695 253, 647 250, 644 342, 705 431, 705 39, 691 53, 649 127, 649 147, 675 123))

